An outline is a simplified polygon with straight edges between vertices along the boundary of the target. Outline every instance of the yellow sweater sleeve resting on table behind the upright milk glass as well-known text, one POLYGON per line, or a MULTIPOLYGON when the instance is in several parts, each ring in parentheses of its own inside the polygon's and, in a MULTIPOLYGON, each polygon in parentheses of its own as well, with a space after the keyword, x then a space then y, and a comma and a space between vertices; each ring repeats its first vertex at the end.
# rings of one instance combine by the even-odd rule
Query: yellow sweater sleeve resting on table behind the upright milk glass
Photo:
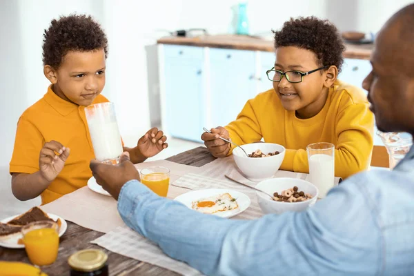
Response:
MULTIPOLYGON (((335 121, 335 176, 346 178, 366 170, 373 150, 374 118, 367 103, 344 108, 335 121)), ((306 150, 286 150, 282 170, 309 172, 306 150)))

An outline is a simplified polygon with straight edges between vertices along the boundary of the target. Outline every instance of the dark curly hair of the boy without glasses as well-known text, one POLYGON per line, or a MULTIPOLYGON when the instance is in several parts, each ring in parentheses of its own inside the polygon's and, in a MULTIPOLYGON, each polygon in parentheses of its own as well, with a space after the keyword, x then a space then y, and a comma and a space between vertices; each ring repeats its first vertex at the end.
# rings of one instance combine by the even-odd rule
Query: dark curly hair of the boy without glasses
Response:
POLYGON ((99 23, 86 15, 70 14, 53 19, 43 34, 43 65, 59 68, 69 51, 103 49, 108 56, 108 39, 99 23))

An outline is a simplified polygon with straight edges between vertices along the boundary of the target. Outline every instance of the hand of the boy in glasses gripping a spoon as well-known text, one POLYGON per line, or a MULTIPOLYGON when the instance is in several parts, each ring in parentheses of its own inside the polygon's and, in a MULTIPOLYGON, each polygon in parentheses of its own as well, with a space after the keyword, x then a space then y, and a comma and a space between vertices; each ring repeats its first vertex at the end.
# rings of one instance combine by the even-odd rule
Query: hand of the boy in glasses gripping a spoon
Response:
POLYGON ((230 144, 219 139, 219 137, 230 139, 228 131, 221 126, 212 128, 210 131, 213 133, 204 132, 203 135, 201 135, 201 140, 204 141, 204 145, 206 145, 208 151, 211 152, 214 157, 226 157, 230 151, 230 144))

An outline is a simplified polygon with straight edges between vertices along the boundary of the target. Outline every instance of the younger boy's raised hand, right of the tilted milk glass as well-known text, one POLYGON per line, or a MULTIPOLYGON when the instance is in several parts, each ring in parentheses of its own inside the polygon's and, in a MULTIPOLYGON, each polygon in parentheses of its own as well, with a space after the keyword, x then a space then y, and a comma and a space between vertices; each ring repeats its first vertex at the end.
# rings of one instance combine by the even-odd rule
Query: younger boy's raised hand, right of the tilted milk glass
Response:
POLYGON ((149 158, 157 155, 164 148, 168 148, 166 141, 167 137, 164 135, 164 132, 158 130, 158 128, 151 128, 139 139, 137 148, 141 155, 149 158))

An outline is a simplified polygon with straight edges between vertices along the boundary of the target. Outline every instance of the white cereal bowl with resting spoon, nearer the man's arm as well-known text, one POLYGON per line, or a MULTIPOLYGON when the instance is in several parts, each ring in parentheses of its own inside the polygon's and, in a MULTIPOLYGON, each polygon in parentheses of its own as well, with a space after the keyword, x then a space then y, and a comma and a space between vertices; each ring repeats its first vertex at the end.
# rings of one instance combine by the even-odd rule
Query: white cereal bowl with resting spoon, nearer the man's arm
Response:
POLYGON ((257 203, 265 214, 305 210, 315 204, 319 195, 319 190, 311 182, 288 177, 262 181, 256 188, 273 195, 272 200, 262 193, 256 193, 257 203))

